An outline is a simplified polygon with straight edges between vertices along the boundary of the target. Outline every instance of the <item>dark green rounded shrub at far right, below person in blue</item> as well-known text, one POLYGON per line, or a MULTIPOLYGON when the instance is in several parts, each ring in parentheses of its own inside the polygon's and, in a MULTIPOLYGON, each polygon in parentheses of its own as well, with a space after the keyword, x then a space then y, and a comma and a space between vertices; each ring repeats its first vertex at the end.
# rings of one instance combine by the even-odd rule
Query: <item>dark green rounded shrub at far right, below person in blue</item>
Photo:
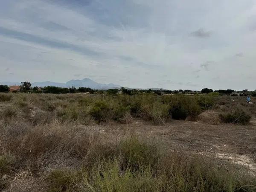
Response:
POLYGON ((236 111, 220 114, 220 118, 224 123, 247 125, 250 122, 251 116, 245 113, 243 110, 237 109, 236 111))

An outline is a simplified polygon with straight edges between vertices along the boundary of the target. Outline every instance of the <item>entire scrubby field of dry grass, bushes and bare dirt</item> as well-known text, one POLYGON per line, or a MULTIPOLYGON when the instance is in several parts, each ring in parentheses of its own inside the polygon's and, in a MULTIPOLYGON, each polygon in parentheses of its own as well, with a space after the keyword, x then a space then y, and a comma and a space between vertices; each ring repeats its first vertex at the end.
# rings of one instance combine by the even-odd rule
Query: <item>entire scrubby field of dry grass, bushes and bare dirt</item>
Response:
POLYGON ((1 93, 0 191, 254 192, 255 119, 218 93, 1 93))

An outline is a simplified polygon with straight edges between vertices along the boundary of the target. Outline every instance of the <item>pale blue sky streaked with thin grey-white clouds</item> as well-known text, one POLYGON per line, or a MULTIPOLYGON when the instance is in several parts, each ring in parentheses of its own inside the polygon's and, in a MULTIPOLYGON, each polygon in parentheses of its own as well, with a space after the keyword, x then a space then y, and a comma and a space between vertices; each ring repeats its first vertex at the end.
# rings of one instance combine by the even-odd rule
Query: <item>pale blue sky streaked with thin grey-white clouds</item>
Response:
POLYGON ((256 89, 256 0, 3 0, 0 81, 256 89))

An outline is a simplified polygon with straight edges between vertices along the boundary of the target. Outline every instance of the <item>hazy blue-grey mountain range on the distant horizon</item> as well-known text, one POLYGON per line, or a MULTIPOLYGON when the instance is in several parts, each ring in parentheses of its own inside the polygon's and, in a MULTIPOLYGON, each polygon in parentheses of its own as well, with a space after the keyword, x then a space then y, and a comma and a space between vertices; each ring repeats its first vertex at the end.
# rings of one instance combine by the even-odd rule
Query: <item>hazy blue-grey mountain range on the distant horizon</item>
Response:
MULTIPOLYGON (((21 83, 18 82, 9 82, 9 81, 0 81, 0 84, 3 85, 20 85, 21 83)), ((91 79, 85 78, 82 80, 70 80, 67 81, 67 83, 56 83, 52 81, 43 81, 43 82, 35 82, 31 83, 31 87, 47 87, 47 86, 55 86, 55 87, 72 87, 74 85, 76 88, 79 87, 90 87, 91 89, 113 89, 113 88, 120 88, 122 86, 118 84, 102 84, 102 83, 97 83, 96 81, 93 81, 91 79)))

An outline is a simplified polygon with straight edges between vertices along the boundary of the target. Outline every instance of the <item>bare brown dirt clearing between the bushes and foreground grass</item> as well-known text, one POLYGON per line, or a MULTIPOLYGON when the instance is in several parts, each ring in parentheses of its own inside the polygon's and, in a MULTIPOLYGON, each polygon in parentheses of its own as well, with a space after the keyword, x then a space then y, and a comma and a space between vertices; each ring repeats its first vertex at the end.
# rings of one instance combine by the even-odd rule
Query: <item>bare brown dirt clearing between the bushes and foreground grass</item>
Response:
POLYGON ((256 172, 256 118, 249 125, 219 124, 172 120, 164 126, 135 119, 128 125, 102 126, 101 131, 133 132, 155 137, 168 150, 192 151, 248 166, 256 172))

